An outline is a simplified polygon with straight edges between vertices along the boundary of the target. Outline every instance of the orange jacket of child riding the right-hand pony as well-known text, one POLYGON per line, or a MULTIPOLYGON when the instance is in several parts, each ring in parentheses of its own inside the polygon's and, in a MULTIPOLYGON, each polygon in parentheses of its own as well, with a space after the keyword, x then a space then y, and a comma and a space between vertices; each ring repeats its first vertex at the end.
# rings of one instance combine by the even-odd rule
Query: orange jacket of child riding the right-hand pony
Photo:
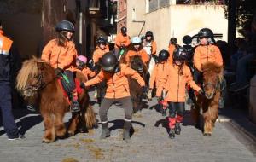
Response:
POLYGON ((215 62, 219 66, 223 66, 221 53, 216 45, 199 45, 195 48, 193 57, 194 65, 201 72, 201 65, 206 62, 215 62))

